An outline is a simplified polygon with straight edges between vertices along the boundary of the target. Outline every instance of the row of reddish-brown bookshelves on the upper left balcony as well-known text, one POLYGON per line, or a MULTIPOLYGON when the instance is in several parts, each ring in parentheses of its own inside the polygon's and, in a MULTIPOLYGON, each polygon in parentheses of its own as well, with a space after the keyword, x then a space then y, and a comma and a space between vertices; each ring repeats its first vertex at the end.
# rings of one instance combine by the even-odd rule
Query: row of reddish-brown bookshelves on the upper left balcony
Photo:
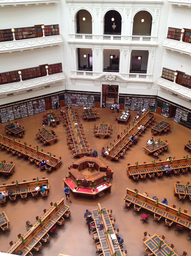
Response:
MULTIPOLYGON (((37 30, 35 26, 30 26, 26 28, 15 28, 15 39, 22 40, 28 38, 37 37, 37 30)), ((60 35, 59 25, 45 25, 44 26, 44 35, 53 36, 60 35)), ((13 33, 11 28, 0 30, 0 42, 3 41, 13 41, 13 33)))

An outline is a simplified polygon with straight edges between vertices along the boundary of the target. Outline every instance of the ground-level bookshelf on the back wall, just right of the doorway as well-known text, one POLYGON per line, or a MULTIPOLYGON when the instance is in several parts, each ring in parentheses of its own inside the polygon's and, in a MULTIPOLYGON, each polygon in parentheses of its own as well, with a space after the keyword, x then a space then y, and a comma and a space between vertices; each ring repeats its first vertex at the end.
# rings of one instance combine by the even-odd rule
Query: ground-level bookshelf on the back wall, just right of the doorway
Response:
POLYGON ((151 111, 155 111, 155 101, 155 98, 150 97, 129 96, 125 98, 125 109, 138 110, 146 107, 146 109, 151 109, 151 111))

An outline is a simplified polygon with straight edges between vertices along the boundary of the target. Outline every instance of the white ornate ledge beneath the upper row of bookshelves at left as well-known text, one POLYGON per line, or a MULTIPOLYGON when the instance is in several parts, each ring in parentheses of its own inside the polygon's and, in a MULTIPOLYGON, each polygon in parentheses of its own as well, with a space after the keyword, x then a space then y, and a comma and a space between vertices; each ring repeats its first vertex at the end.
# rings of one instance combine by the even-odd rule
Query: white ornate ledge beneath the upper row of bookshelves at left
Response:
POLYGON ((7 41, 7 42, 0 43, 0 53, 42 48, 47 46, 60 45, 62 43, 63 43, 62 35, 7 41))

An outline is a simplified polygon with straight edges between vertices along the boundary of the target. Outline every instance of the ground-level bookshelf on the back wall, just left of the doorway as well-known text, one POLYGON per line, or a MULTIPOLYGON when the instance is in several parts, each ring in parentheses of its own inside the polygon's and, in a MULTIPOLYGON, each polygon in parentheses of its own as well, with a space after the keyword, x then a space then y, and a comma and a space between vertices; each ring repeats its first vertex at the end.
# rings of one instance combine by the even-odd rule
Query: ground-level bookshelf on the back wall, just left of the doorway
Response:
POLYGON ((65 94, 65 104, 78 107, 81 105, 83 107, 94 107, 94 95, 67 92, 65 94))

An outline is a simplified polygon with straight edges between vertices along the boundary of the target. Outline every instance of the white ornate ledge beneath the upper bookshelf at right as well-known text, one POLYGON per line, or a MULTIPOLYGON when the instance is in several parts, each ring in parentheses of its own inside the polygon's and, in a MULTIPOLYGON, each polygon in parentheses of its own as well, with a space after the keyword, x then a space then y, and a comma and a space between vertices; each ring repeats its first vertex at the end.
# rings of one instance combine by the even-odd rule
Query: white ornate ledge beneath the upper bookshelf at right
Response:
POLYGON ((191 44, 165 38, 162 46, 171 51, 178 51, 191 56, 191 44))

